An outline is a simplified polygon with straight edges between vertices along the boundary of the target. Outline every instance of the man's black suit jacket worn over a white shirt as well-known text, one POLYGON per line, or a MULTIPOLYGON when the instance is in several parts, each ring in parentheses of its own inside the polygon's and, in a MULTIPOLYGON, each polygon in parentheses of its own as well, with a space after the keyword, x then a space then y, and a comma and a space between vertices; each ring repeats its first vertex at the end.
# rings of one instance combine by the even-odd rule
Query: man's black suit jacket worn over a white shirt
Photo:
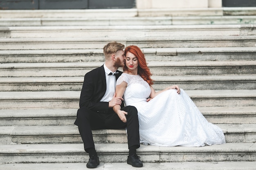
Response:
MULTIPOLYGON (((123 73, 118 74, 116 80, 123 73)), ((85 74, 83 88, 80 95, 79 107, 87 107, 92 111, 99 113, 108 112, 108 102, 100 102, 106 92, 106 77, 103 65, 85 74)), ((124 107, 122 103, 121 107, 124 107)))

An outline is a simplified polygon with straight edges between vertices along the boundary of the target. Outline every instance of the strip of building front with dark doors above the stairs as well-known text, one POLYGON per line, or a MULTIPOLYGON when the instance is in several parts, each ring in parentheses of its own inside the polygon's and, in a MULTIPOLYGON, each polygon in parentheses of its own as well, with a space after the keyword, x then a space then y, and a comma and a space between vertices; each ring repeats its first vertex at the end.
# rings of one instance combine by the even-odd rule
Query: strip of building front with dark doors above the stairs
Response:
POLYGON ((0 0, 0 9, 256 7, 256 0, 0 0))

